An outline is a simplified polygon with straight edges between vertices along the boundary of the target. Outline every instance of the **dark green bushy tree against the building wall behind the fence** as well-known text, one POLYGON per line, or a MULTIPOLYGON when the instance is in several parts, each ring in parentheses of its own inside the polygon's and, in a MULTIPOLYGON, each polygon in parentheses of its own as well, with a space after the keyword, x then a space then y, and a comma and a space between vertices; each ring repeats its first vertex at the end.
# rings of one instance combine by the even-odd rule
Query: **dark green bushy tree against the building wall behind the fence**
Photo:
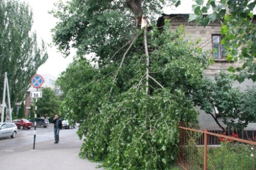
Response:
POLYGON ((248 123, 255 123, 255 87, 248 87, 245 91, 234 88, 229 74, 221 72, 215 80, 205 78, 201 86, 194 90, 193 100, 200 109, 210 114, 216 123, 225 131, 219 118, 231 128, 244 129, 248 123))

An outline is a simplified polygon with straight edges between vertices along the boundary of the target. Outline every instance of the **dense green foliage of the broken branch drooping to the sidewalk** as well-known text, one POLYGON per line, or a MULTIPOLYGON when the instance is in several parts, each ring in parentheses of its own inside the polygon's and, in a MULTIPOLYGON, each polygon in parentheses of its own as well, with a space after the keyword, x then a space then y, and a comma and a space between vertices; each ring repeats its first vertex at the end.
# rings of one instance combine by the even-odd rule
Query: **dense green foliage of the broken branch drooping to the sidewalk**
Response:
MULTIPOLYGON (((183 31, 167 31, 154 39, 157 43, 150 42, 162 45, 152 53, 150 75, 164 87, 150 80, 150 95, 143 80, 145 65, 139 61, 143 52, 130 56, 115 83, 114 62, 94 68, 81 59, 62 73, 58 82, 67 93, 63 110, 69 118, 83 120, 78 135, 86 141, 80 156, 114 169, 168 169, 176 158, 179 121, 197 121, 190 93, 201 83, 205 66, 200 50, 181 38, 183 31)), ((133 48, 136 52, 139 46, 133 48)))

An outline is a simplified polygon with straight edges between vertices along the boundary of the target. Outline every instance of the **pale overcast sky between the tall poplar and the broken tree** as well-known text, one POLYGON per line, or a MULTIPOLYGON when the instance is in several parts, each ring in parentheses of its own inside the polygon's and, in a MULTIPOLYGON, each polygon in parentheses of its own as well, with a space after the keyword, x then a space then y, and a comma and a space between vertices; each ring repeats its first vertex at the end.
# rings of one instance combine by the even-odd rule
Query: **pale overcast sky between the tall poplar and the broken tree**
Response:
MULTIPOLYGON (((57 19, 52 14, 48 14, 48 11, 53 9, 54 2, 59 0, 25 0, 30 4, 34 14, 33 30, 37 33, 39 42, 41 39, 46 44, 52 43, 50 30, 54 28, 57 19)), ((66 70, 68 64, 72 62, 71 53, 70 56, 64 58, 61 53, 58 52, 57 47, 47 46, 48 60, 45 64, 41 65, 37 70, 37 74, 50 74, 51 76, 58 77, 62 71, 66 70)))

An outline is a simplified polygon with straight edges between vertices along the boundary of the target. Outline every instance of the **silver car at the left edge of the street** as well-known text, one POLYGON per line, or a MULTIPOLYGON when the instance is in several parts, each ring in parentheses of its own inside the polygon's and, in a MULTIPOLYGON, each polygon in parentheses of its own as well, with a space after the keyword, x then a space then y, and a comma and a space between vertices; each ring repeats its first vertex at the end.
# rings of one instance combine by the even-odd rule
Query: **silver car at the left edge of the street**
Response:
POLYGON ((14 123, 0 123, 0 138, 11 136, 15 138, 18 132, 18 128, 14 123))

